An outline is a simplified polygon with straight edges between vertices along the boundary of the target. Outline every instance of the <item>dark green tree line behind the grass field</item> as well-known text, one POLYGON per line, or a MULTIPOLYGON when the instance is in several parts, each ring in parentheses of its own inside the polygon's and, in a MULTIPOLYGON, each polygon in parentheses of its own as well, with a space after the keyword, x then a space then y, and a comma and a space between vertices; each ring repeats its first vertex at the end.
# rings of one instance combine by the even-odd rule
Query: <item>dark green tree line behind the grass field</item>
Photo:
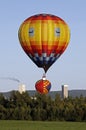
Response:
POLYGON ((13 91, 9 98, 0 94, 0 120, 86 121, 86 97, 55 99, 49 95, 13 91))

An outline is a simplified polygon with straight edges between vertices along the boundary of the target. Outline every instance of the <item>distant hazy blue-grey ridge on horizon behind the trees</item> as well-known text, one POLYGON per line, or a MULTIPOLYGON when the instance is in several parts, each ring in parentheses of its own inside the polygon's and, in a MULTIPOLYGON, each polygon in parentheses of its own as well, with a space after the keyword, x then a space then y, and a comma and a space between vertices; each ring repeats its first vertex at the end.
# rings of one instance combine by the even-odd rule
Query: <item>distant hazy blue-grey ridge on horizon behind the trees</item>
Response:
MULTIPOLYGON (((0 92, 0 94, 3 94, 6 98, 9 98, 12 91, 9 92, 0 92)), ((30 96, 34 96, 36 94, 35 90, 27 90, 28 94, 30 96)), ((55 95, 59 94, 60 97, 62 97, 61 91, 50 91, 48 95, 50 95, 53 99, 55 98, 55 95)), ((69 90, 68 96, 70 97, 80 97, 80 96, 86 97, 86 90, 69 90)))

